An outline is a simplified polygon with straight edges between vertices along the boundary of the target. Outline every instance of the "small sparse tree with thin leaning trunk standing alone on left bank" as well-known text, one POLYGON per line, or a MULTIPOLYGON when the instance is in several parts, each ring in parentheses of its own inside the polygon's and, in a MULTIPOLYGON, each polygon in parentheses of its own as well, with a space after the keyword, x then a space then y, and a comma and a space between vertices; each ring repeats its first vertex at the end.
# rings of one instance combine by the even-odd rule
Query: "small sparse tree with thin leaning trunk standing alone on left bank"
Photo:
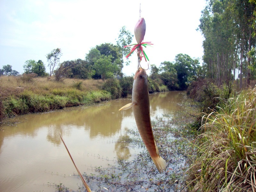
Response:
POLYGON ((62 55, 60 48, 53 49, 46 55, 48 67, 50 69, 50 76, 52 76, 54 68, 60 63, 60 56, 62 55))

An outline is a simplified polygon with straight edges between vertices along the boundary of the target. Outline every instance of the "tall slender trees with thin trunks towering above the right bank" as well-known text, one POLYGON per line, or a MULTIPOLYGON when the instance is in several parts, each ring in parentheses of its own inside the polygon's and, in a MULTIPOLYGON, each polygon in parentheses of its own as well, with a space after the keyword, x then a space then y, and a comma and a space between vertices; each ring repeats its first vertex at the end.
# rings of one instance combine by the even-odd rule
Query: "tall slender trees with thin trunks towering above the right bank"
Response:
POLYGON ((202 11, 198 29, 204 36, 206 76, 218 84, 235 80, 239 70, 240 88, 243 78, 252 85, 247 66, 253 66, 248 52, 256 44, 255 7, 254 0, 211 0, 202 11))

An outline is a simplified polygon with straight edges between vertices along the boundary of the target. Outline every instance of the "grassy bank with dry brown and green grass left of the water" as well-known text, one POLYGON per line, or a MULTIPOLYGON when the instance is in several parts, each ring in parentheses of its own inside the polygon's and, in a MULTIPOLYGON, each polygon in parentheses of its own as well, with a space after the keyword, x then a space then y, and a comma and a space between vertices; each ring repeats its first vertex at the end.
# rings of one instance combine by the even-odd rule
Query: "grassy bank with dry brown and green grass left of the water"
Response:
POLYGON ((111 99, 111 93, 102 90, 102 85, 100 80, 56 82, 46 77, 1 76, 0 120, 111 99))

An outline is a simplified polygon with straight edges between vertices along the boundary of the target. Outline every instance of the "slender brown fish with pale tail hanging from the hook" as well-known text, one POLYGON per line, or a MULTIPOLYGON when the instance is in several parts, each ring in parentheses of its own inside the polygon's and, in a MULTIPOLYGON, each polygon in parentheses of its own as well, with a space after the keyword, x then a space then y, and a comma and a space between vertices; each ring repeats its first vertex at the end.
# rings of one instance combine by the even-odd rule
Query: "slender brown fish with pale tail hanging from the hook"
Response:
POLYGON ((159 151, 153 135, 149 109, 148 75, 142 68, 139 68, 134 76, 132 87, 132 103, 125 105, 119 110, 126 110, 131 107, 140 136, 146 148, 148 149, 149 155, 155 163, 158 171, 162 173, 166 168, 166 162, 159 155, 159 151))

